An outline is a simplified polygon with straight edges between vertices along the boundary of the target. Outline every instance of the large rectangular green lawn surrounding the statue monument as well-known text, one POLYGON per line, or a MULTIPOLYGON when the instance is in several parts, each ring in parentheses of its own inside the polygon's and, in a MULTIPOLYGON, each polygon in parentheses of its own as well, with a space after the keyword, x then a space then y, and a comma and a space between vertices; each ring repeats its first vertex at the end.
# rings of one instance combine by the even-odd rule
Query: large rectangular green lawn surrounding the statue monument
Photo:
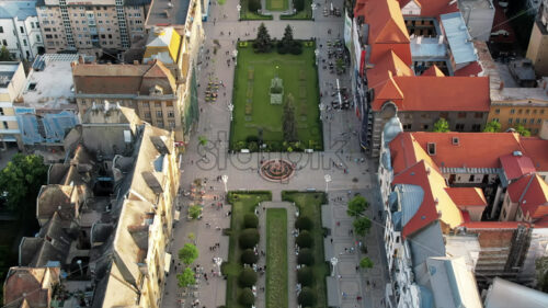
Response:
MULTIPOLYGON (((284 101, 290 93, 295 102, 297 138, 301 149, 323 149, 315 66, 315 44, 305 42, 301 55, 255 54, 251 42, 240 42, 235 72, 233 121, 230 148, 249 148, 249 136, 260 137, 266 151, 285 151, 283 106, 270 103, 270 87, 274 77, 283 80, 284 101)), ((298 147, 293 147, 297 149, 298 147)), ((253 151, 253 149, 251 149, 253 151)))

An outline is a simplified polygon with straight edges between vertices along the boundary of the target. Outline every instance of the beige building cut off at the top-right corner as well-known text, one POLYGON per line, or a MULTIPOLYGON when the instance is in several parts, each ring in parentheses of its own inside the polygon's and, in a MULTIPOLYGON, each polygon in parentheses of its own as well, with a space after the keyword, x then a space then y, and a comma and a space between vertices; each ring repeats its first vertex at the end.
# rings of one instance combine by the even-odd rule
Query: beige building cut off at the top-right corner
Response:
POLYGON ((548 1, 544 0, 533 23, 526 57, 538 76, 548 76, 548 1))

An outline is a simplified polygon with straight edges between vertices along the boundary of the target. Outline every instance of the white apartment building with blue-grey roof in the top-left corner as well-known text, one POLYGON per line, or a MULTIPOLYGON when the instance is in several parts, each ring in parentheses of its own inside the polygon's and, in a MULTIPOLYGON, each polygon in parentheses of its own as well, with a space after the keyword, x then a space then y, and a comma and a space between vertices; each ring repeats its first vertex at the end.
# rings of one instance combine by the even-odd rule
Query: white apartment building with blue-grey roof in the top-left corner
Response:
POLYGON ((0 43, 13 59, 34 60, 44 54, 44 39, 36 14, 36 1, 0 2, 0 43))

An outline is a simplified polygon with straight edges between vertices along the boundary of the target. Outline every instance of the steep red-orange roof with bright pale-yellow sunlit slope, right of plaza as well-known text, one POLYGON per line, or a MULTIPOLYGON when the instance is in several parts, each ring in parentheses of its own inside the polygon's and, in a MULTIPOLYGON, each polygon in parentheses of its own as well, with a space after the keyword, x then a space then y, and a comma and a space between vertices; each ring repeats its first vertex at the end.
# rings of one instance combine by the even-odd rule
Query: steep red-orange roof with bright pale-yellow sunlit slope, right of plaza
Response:
POLYGON ((464 223, 463 215, 445 191, 445 180, 424 160, 393 178, 392 184, 412 184, 422 187, 422 203, 413 217, 403 226, 401 236, 407 238, 439 219, 449 228, 464 223))

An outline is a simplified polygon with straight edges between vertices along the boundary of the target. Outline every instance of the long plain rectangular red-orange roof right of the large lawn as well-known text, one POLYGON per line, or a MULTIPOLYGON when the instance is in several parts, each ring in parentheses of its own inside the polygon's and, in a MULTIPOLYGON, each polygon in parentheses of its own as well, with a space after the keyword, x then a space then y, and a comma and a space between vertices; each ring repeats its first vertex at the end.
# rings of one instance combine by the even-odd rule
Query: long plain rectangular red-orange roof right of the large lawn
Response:
MULTIPOLYGON (((491 104, 488 77, 395 76, 393 80, 404 96, 400 111, 488 112, 491 104)), ((380 111, 389 99, 375 93, 373 110, 380 111)))

